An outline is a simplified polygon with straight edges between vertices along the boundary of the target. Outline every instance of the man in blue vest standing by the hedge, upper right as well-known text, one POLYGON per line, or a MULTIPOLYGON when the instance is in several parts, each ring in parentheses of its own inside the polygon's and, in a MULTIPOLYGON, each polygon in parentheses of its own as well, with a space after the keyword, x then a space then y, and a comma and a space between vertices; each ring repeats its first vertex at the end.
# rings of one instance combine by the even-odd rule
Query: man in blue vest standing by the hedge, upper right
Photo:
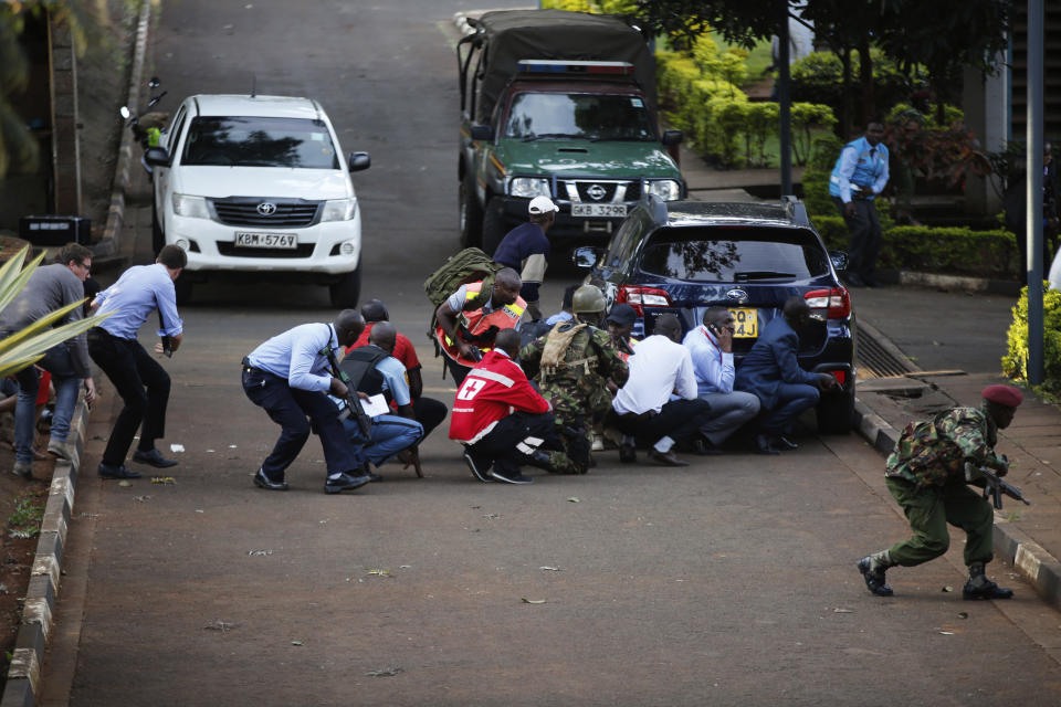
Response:
POLYGON ((850 231, 848 270, 841 277, 849 285, 876 286, 873 270, 881 251, 881 222, 873 201, 887 186, 887 147, 881 144, 884 126, 872 120, 865 134, 843 146, 829 178, 829 196, 850 231))

